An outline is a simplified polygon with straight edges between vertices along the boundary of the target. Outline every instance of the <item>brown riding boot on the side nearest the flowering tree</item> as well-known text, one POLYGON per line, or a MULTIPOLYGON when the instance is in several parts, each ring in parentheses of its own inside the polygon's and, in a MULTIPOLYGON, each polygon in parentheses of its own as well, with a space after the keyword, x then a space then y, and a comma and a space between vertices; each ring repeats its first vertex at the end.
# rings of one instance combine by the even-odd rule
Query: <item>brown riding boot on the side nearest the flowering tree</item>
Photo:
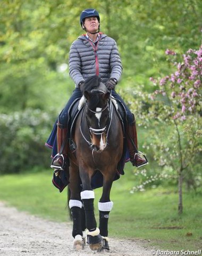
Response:
POLYGON ((141 167, 148 164, 146 156, 138 151, 138 138, 135 119, 132 124, 127 125, 127 144, 130 154, 130 161, 133 166, 141 167))

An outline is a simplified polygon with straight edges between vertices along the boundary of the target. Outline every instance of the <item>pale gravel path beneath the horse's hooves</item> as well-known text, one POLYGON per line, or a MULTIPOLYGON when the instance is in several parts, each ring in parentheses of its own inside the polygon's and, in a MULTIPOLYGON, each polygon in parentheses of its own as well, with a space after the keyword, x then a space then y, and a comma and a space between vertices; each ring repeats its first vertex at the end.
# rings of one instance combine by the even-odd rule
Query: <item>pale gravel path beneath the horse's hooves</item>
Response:
POLYGON ((40 219, 0 202, 0 255, 151 256, 147 241, 110 239, 110 253, 73 250, 71 223, 40 219))

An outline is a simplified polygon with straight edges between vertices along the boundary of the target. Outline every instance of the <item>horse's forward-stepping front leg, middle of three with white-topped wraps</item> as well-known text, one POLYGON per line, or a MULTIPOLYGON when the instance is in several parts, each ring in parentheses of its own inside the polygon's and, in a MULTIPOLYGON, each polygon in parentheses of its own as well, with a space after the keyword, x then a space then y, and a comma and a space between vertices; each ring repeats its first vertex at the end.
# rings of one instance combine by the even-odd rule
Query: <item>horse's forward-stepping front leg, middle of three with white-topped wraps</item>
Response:
POLYGON ((91 188, 91 176, 94 170, 88 170, 80 168, 80 177, 83 185, 81 191, 81 199, 83 201, 85 214, 86 214, 86 227, 87 227, 87 238, 88 244, 92 251, 97 251, 103 246, 103 238, 100 235, 99 228, 97 228, 97 222, 94 213, 94 198, 95 193, 91 188))

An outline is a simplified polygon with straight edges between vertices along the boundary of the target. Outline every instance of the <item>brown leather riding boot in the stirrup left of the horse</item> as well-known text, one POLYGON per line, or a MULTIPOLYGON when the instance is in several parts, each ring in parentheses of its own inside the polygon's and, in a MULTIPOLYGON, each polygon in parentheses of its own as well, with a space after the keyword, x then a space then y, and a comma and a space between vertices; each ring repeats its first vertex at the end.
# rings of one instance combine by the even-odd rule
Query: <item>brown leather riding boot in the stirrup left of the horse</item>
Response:
MULTIPOLYGON (((64 128, 64 126, 61 125, 58 121, 57 123, 57 152, 58 153, 60 152, 64 139, 66 138, 67 132, 68 132, 68 129, 64 128)), ((67 160, 68 160, 68 149, 67 149, 67 146, 65 145, 62 153, 57 154, 55 156, 55 159, 53 159, 51 167, 53 169, 62 170, 64 169, 64 166, 67 160)))

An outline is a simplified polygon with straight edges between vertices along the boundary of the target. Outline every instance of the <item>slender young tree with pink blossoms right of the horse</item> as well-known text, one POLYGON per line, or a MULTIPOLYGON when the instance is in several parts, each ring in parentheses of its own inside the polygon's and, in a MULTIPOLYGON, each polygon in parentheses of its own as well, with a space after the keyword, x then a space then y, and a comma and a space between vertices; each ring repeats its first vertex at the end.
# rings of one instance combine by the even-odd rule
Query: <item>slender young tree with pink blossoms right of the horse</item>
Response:
MULTIPOLYGON (((136 95, 135 111, 141 125, 153 128, 150 129, 149 147, 155 162, 163 172, 170 175, 174 170, 178 174, 178 210, 182 213, 183 178, 189 181, 191 177, 198 177, 197 163, 201 161, 202 46, 183 54, 182 61, 178 61, 174 51, 167 49, 165 53, 173 63, 174 73, 157 79, 151 77, 157 89, 150 94, 141 92, 140 97, 136 95)), ((162 174, 159 177, 162 178, 162 174)), ((157 176, 150 180, 155 179, 157 176)))

